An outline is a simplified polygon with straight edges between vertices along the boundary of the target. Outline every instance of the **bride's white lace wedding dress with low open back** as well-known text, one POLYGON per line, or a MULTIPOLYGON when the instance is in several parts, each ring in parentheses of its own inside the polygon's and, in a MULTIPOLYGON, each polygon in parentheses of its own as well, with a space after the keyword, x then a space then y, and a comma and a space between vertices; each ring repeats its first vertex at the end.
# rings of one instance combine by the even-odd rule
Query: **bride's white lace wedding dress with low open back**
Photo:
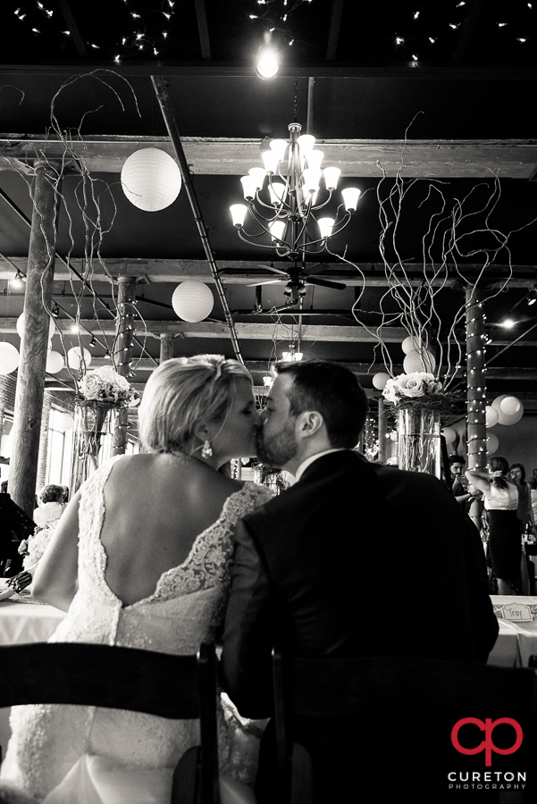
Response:
MULTIPOLYGON (((222 622, 235 524, 272 492, 246 482, 226 500, 218 520, 197 536, 189 557, 161 575, 154 593, 123 607, 105 582, 106 554, 100 540, 105 482, 115 460, 92 475, 80 498, 79 590, 50 641, 196 653, 222 622)), ((219 735, 221 767, 244 780, 240 763, 236 773, 232 768, 237 763, 237 747, 231 745, 233 723, 238 722, 229 710, 226 716, 231 739, 219 735)), ((220 720, 223 731, 222 716, 220 720)), ((93 804, 107 801, 109 794, 110 801, 164 804, 170 799, 173 767, 198 741, 197 721, 117 709, 14 707, 11 724, 13 737, 0 768, 0 796, 8 804, 93 804), (127 797, 115 798, 122 784, 127 797)))

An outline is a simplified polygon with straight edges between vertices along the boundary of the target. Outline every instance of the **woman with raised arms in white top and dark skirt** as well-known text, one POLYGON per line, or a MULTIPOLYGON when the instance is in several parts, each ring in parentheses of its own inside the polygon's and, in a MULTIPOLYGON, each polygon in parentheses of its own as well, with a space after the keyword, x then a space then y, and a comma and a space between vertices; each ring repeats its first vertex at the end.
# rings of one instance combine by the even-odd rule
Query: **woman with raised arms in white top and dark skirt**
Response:
MULTIPOLYGON (((491 457, 490 467, 491 474, 486 469, 468 469, 466 480, 482 491, 485 498, 492 570, 499 594, 510 595, 512 583, 520 575, 522 561, 522 540, 516 518, 518 489, 515 483, 508 481, 509 465, 504 457, 491 457)), ((529 583, 526 594, 528 591, 529 583)))

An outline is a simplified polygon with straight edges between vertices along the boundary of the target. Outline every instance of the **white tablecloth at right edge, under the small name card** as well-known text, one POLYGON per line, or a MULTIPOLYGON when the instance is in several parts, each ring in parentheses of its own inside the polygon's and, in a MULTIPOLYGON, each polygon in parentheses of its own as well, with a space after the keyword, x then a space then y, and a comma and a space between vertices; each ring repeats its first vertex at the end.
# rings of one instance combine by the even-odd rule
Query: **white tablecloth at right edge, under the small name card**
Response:
MULTIPOLYGON (((493 606, 524 603, 537 607, 537 597, 530 595, 491 595, 493 606)), ((499 634, 489 654, 489 665, 527 667, 530 656, 537 656, 537 617, 531 622, 513 622, 499 618, 499 634)))

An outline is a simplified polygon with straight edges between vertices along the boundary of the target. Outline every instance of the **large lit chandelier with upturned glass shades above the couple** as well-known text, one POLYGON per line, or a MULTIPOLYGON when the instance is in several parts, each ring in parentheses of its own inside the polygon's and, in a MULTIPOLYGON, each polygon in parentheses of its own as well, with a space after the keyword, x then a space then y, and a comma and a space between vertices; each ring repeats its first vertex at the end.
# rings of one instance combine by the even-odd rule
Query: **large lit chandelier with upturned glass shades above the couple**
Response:
POLYGON ((304 262, 306 255, 321 254, 328 240, 347 226, 357 208, 360 190, 350 187, 341 190, 342 203, 335 217, 317 217, 318 211, 330 203, 341 171, 337 167, 322 170, 323 151, 315 149, 315 137, 300 134, 300 130, 299 123, 290 123, 289 142, 271 141, 270 150, 262 153, 264 168, 251 168, 248 176, 240 180, 247 205, 233 204, 230 210, 241 240, 262 248, 275 248, 282 258, 304 262), (265 176, 268 192, 264 191, 265 176), (317 204, 322 179, 328 196, 317 204), (253 219, 256 231, 244 228, 248 213, 248 222, 253 219), (271 245, 257 242, 265 234, 270 236, 271 245))

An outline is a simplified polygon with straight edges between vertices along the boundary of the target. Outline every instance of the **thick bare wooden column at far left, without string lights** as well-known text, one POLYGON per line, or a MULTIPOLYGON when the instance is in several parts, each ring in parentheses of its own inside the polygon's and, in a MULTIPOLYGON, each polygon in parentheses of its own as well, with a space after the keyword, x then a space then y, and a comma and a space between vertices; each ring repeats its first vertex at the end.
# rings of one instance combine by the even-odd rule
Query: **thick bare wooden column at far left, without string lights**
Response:
POLYGON ((29 235, 28 272, 24 296, 24 333, 21 339, 13 454, 9 490, 29 516, 34 510, 38 476, 39 435, 45 392, 46 347, 52 306, 58 196, 61 177, 51 163, 34 163, 33 211, 29 235))

